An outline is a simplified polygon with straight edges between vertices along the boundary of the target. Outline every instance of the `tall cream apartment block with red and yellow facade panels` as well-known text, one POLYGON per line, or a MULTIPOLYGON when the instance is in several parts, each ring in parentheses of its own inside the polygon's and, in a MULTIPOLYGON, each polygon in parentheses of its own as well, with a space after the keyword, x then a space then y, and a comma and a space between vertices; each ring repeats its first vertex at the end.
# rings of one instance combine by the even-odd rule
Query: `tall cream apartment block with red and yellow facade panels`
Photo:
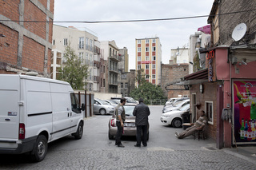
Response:
MULTIPOLYGON (((135 39, 136 70, 144 69, 146 81, 161 84, 162 45, 159 38, 135 39)), ((138 83, 136 82, 136 86, 138 83)))

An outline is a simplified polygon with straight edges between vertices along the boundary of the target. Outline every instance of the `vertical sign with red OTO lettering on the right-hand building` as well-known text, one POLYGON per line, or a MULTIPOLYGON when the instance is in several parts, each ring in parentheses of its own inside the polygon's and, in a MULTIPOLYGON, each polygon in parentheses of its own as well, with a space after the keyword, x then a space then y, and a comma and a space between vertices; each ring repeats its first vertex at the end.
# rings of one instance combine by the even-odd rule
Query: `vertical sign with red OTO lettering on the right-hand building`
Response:
POLYGON ((208 65, 208 81, 212 82, 212 81, 216 81, 216 77, 215 77, 215 53, 214 50, 206 53, 206 62, 208 65))

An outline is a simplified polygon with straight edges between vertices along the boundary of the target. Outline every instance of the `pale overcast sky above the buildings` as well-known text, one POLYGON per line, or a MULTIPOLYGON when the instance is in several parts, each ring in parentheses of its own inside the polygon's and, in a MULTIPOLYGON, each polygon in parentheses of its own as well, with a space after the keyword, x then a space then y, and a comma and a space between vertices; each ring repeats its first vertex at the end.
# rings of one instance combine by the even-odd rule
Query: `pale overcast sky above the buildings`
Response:
POLYGON ((126 47, 129 69, 135 69, 135 38, 160 38, 162 63, 168 64, 170 49, 183 47, 190 34, 207 25, 207 17, 155 22, 65 23, 183 18, 209 15, 214 0, 55 0, 54 22, 94 31, 99 41, 114 40, 126 47))

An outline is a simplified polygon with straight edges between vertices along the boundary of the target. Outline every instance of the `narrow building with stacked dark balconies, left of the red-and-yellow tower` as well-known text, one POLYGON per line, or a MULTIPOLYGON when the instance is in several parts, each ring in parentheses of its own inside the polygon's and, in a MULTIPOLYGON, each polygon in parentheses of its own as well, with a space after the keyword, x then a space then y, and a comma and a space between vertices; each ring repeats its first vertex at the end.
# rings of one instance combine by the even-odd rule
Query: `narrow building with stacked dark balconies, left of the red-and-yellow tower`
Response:
POLYGON ((120 70, 118 62, 119 57, 118 46, 113 41, 102 41, 101 49, 104 60, 106 60, 106 93, 121 93, 120 91, 120 70))

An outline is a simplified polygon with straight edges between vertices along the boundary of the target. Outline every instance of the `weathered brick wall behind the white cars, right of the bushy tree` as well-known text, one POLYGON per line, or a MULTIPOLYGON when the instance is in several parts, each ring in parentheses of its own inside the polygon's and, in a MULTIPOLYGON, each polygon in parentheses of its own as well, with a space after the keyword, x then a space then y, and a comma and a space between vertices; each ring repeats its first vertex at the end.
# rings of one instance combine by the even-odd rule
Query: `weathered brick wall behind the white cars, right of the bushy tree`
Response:
POLYGON ((165 92, 166 97, 178 97, 178 95, 189 96, 190 92, 188 90, 178 90, 184 89, 183 85, 170 85, 171 82, 181 81, 182 77, 189 74, 189 65, 164 65, 162 64, 162 90, 165 92), (177 89, 177 90, 166 90, 167 89, 177 89))

